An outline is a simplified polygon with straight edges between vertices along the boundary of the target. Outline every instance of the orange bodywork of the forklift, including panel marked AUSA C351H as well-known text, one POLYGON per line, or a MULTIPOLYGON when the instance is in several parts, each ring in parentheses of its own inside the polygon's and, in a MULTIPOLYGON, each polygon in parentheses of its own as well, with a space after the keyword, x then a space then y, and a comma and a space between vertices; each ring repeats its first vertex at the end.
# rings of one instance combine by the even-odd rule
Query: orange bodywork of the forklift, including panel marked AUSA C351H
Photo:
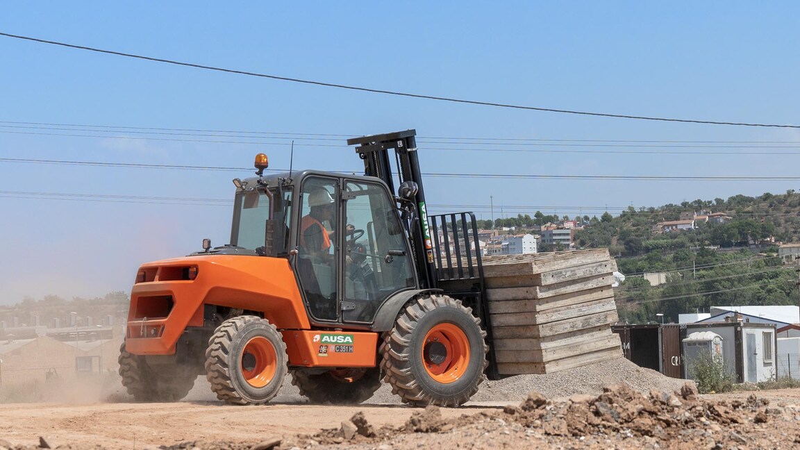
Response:
POLYGON ((286 259, 239 255, 198 255, 142 265, 130 294, 126 350, 173 355, 187 327, 202 327, 205 304, 262 312, 281 330, 292 365, 376 364, 378 333, 310 330, 286 259))

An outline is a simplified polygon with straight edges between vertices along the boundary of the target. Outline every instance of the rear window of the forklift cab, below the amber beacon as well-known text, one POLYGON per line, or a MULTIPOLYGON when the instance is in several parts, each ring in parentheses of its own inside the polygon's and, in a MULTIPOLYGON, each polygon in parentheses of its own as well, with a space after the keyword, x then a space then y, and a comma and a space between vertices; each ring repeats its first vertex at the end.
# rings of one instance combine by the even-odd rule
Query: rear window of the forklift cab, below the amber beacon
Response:
POLYGON ((272 217, 269 191, 245 191, 236 195, 231 243, 255 250, 264 247, 266 221, 272 217))

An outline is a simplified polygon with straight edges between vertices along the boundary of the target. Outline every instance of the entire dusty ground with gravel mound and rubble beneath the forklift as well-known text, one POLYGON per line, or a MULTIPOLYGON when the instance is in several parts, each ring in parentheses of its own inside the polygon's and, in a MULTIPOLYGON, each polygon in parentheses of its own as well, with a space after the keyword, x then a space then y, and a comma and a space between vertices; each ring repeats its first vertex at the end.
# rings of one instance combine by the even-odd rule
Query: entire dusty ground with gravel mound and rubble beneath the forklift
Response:
POLYGON ((214 401, 202 379, 173 404, 130 403, 119 386, 61 386, 47 399, 57 403, 0 405, 0 448, 270 448, 278 441, 283 449, 379 450, 800 446, 800 389, 696 396, 693 386, 681 387, 681 380, 626 360, 490 382, 458 409, 408 408, 383 388, 354 406, 306 404, 286 387, 273 404, 235 407, 214 401), (584 373, 630 381, 634 389, 599 388, 584 373), (531 384, 546 396, 529 394, 531 384), (577 393, 565 398, 565 390, 577 393))

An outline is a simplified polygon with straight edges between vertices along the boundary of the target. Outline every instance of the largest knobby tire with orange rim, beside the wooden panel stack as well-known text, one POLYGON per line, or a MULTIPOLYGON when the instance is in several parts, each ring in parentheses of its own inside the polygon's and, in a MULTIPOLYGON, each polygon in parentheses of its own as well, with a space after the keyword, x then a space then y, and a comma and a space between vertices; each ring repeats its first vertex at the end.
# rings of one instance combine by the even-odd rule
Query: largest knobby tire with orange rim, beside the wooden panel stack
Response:
POLYGON ((480 320, 457 299, 414 299, 383 340, 381 368, 402 401, 456 407, 478 392, 488 362, 480 320))

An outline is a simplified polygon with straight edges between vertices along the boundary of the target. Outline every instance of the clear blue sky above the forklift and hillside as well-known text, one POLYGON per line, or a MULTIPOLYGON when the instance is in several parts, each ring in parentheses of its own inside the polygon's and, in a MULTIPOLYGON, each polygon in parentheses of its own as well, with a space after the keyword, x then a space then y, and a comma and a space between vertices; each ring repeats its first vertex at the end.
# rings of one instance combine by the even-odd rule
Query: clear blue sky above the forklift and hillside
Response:
MULTIPOLYGON (((261 74, 563 110, 800 124, 796 2, 0 8, 2 33, 261 74)), ((7 37, 0 55, 0 304, 130 291, 139 263, 186 255, 206 237, 227 243, 230 180, 249 176, 259 151, 270 167, 287 169, 292 139, 295 168, 359 171, 346 137, 415 128, 422 170, 434 174, 797 176, 796 129, 437 102, 7 37), (196 131, 179 131, 186 129, 196 131)), ((433 213, 472 210, 490 219, 490 204, 495 218, 617 214, 630 205, 782 193, 800 183, 431 176, 426 189, 433 213)))

